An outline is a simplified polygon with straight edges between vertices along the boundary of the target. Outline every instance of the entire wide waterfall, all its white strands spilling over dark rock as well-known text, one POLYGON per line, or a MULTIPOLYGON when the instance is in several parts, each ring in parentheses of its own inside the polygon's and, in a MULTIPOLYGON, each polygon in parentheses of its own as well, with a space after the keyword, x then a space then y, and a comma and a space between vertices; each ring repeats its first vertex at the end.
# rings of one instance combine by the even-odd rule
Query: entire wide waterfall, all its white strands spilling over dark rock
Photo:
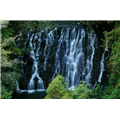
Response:
POLYGON ((96 70, 94 74, 99 74, 95 80, 101 82, 104 54, 108 49, 106 47, 101 62, 97 60, 98 38, 95 34, 87 33, 84 29, 76 27, 72 29, 56 27, 52 31, 46 28, 44 36, 40 32, 32 33, 32 35, 28 33, 28 38, 28 46, 31 48, 29 57, 33 61, 32 75, 27 87, 29 93, 35 90, 45 90, 45 80, 49 76, 47 78, 43 73, 48 74, 48 72, 51 72, 52 80, 56 74, 63 74, 70 89, 79 85, 81 80, 92 85, 92 73, 95 68, 99 68, 99 64, 100 74, 99 70, 96 70))

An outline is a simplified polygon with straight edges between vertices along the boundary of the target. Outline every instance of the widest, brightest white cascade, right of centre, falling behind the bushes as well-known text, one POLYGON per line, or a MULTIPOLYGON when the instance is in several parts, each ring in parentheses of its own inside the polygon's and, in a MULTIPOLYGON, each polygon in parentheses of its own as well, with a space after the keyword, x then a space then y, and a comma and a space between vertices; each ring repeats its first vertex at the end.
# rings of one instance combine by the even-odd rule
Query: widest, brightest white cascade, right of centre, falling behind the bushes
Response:
MULTIPOLYGON (((82 40, 85 36, 85 32, 81 31, 82 37, 79 38, 80 30, 78 31, 78 34, 76 36, 76 30, 75 28, 72 30, 70 35, 70 51, 67 55, 66 53, 66 82, 68 83, 68 87, 71 89, 74 89, 74 87, 77 85, 77 81, 79 81, 79 75, 78 75, 78 69, 79 66, 79 60, 80 58, 84 60, 84 53, 82 50, 82 40)), ((68 39, 68 40, 69 40, 68 39)), ((66 42, 68 41, 66 40, 66 42)), ((67 48, 68 51, 69 48, 67 48)), ((81 61, 81 63, 84 64, 84 61, 81 61)))

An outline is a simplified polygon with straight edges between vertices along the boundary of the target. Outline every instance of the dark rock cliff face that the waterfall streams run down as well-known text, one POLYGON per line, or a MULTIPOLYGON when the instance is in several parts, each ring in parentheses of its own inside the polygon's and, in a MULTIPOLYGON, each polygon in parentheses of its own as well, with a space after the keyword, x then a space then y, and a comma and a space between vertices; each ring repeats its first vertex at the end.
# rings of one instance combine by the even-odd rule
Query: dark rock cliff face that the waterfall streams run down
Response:
POLYGON ((39 79, 46 89, 57 73, 65 77, 71 88, 81 80, 91 87, 98 81, 103 49, 95 34, 77 27, 45 29, 42 33, 29 32, 25 44, 32 52, 19 57, 26 63, 20 64, 20 89, 28 89, 33 75, 34 89, 37 89, 39 79))

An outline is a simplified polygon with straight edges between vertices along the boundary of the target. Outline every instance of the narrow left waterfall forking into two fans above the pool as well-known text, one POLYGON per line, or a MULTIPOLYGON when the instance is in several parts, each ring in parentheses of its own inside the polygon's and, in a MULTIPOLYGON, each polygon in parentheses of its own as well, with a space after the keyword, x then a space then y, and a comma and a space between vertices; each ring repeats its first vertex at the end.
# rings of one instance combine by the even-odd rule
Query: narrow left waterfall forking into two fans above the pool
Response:
POLYGON ((40 44, 41 44, 41 34, 39 33, 39 35, 37 35, 37 33, 36 33, 34 38, 33 38, 33 36, 34 36, 34 34, 32 34, 32 36, 30 38, 30 42, 29 42, 29 46, 32 48, 32 50, 30 51, 30 57, 33 59, 33 66, 32 66, 33 74, 30 79, 30 82, 28 84, 28 92, 29 93, 35 91, 35 81, 34 81, 35 78, 38 79, 37 80, 38 81, 37 82, 37 90, 44 89, 43 80, 39 76, 39 72, 38 72, 38 64, 39 64, 38 52, 39 52, 40 44))

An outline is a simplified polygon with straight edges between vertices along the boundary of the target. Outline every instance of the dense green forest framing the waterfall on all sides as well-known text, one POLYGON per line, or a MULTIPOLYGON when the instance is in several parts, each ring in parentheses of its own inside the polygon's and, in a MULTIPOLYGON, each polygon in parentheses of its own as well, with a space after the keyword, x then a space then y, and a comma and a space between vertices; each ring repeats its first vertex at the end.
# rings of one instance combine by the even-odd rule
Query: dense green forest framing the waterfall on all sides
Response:
POLYGON ((120 98, 120 20, 0 20, 0 99, 11 99, 16 91, 16 81, 20 81, 20 66, 18 56, 28 53, 30 48, 23 49, 24 38, 28 31, 42 31, 46 27, 74 26, 80 23, 88 31, 94 30, 101 34, 105 48, 111 51, 107 61, 107 83, 101 88, 96 83, 94 89, 81 81, 75 90, 66 88, 64 77, 57 75, 50 82, 45 99, 119 99, 120 98), (99 32, 98 32, 99 31, 99 32), (16 46, 17 38, 22 35, 19 47, 16 46))

